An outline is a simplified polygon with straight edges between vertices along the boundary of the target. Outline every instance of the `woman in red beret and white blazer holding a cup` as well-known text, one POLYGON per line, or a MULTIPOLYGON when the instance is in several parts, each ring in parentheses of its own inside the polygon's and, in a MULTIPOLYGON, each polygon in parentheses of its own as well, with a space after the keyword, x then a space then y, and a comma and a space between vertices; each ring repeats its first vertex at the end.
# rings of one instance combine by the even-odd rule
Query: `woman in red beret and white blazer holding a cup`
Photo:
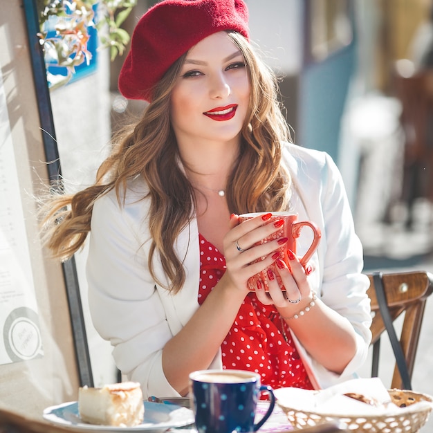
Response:
POLYGON ((91 233, 91 315, 118 368, 145 396, 185 395, 188 374, 208 368, 252 369, 273 387, 351 378, 371 338, 360 241, 331 158, 289 143, 243 1, 156 4, 119 89, 149 106, 95 185, 46 217, 61 221, 48 243, 58 257, 91 233), (279 257, 285 238, 255 246, 279 230, 269 219, 281 210, 322 231, 305 269, 291 251, 290 269, 279 257), (244 212, 268 213, 239 223, 244 212), (268 291, 248 291, 274 262, 286 292, 274 273, 268 291))

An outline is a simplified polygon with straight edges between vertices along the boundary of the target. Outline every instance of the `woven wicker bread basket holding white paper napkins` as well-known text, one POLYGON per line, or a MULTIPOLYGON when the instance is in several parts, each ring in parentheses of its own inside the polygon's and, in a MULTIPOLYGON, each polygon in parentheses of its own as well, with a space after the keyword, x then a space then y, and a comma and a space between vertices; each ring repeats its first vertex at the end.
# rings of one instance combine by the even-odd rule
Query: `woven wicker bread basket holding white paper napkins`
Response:
POLYGON ((277 400, 277 404, 286 414, 288 421, 295 430, 313 427, 330 421, 337 420, 347 425, 347 431, 353 433, 416 433, 427 422, 432 411, 433 399, 427 394, 414 391, 403 391, 401 389, 389 389, 392 403, 398 407, 409 407, 414 403, 428 402, 430 405, 421 405, 405 409, 401 415, 392 416, 342 416, 341 414, 317 414, 314 412, 300 411, 284 406, 277 400))

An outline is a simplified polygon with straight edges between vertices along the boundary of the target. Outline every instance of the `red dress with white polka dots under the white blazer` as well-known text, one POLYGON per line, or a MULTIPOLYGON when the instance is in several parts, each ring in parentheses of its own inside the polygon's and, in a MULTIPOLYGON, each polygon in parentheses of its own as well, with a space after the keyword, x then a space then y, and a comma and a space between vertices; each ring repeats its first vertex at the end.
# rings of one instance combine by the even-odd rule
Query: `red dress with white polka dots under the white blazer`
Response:
MULTIPOLYGON (((225 258, 203 236, 200 239, 199 304, 225 272, 225 258)), ((264 305, 248 293, 221 345, 224 369, 255 371, 273 388, 313 389, 291 333, 275 306, 264 305)))

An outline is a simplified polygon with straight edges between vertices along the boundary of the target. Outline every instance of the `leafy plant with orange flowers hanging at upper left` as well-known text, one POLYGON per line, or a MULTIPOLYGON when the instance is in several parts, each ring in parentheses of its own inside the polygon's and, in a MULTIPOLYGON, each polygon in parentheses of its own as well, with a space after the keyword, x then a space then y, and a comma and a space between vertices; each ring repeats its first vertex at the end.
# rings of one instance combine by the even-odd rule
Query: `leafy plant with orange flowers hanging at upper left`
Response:
POLYGON ((120 26, 136 0, 38 0, 37 6, 46 64, 66 71, 53 74, 47 68, 50 89, 55 89, 71 80, 77 66, 89 65, 93 34, 98 35, 98 49, 109 48, 111 60, 124 53, 130 37, 120 26))

